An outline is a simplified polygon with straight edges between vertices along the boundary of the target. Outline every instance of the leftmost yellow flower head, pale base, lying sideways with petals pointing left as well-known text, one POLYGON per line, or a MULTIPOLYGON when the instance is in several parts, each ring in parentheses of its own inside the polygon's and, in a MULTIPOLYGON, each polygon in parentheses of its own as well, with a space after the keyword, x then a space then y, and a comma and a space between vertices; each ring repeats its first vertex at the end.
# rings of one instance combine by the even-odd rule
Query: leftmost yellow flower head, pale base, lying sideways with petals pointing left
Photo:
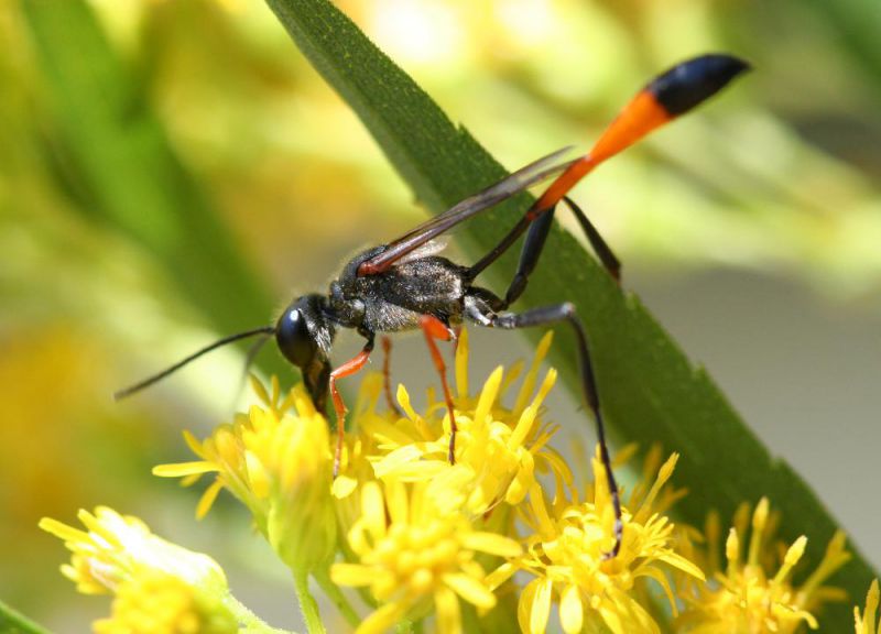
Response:
POLYGON ((40 527, 64 539, 73 553, 70 564, 62 566, 62 573, 84 594, 116 592, 145 570, 177 578, 209 593, 222 595, 229 591, 224 570, 214 559, 153 535, 137 517, 120 515, 107 506, 98 506, 94 515, 80 510, 77 517, 87 531, 51 517, 41 520, 40 527))

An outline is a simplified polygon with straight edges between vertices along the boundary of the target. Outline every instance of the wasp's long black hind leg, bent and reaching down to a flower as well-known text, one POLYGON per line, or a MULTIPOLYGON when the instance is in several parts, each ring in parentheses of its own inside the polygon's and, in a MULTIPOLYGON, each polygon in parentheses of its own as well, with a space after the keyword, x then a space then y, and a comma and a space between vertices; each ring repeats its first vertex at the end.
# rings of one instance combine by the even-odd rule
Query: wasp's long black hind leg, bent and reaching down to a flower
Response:
POLYGON ((618 493, 618 484, 612 473, 609 448, 606 444, 606 426, 600 411, 599 393, 594 376, 594 367, 590 362, 587 335, 581 320, 578 318, 578 314, 575 311, 575 306, 569 302, 565 302, 554 306, 533 308, 524 313, 494 313, 488 310, 486 302, 481 298, 468 296, 466 297, 466 315, 477 324, 488 328, 530 328, 532 326, 548 326, 551 324, 565 321, 575 331, 578 364, 581 372, 581 389, 597 424, 597 441, 599 442, 600 460, 606 470, 606 479, 609 482, 609 494, 612 500, 612 506, 614 507, 614 546, 612 550, 607 554, 608 558, 614 557, 621 548, 621 536, 623 533, 623 524, 621 523, 621 500, 618 493))

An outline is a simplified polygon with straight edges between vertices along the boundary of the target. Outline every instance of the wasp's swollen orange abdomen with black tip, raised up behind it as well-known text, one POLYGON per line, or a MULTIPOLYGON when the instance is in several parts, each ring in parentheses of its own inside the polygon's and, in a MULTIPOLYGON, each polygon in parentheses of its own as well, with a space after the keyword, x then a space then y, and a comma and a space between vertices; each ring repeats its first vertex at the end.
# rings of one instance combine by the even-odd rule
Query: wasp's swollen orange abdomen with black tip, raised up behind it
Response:
POLYGON ((662 73, 637 92, 586 154, 554 181, 533 209, 553 207, 603 161, 630 147, 664 123, 684 114, 749 70, 749 63, 731 55, 694 57, 662 73))

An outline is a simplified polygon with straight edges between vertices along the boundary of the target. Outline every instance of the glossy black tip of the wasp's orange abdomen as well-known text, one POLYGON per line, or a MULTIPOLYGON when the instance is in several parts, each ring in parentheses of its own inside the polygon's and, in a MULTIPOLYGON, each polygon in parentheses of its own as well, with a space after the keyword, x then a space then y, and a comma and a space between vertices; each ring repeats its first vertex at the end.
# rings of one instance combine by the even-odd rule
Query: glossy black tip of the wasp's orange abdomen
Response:
POLYGON ((701 55, 674 66, 645 87, 671 117, 687 112, 752 68, 731 55, 701 55))

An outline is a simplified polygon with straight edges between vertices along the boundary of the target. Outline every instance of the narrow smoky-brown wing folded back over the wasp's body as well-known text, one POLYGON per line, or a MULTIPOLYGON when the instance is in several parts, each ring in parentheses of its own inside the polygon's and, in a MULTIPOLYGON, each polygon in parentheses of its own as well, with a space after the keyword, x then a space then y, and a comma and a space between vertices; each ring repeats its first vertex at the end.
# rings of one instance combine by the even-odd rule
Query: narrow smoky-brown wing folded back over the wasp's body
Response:
POLYGON ((556 163, 556 161, 570 150, 572 145, 539 158, 525 167, 521 167, 494 185, 490 185, 474 196, 469 196, 465 200, 457 203, 439 216, 426 220, 415 229, 409 231, 393 242, 390 242, 381 253, 362 262, 360 266, 358 266, 358 275, 376 275, 388 271, 395 262, 400 261, 401 258, 445 231, 449 231, 459 222, 498 205, 502 200, 507 200, 524 189, 529 189, 542 181, 546 181, 559 174, 572 165, 574 161, 566 161, 564 163, 556 163))

